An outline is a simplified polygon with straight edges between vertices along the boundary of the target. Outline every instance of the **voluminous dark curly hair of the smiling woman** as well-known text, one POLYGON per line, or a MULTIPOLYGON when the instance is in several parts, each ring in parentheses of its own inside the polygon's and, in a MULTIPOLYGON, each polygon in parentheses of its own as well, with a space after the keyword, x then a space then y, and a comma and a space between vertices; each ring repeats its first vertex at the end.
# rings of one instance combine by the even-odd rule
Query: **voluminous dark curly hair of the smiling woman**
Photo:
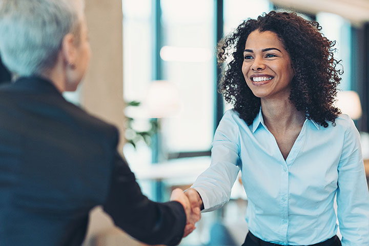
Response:
POLYGON ((240 118, 251 125, 260 109, 260 98, 252 93, 241 71, 246 39, 255 30, 276 33, 290 54, 295 75, 289 99, 296 109, 305 111, 306 118, 323 127, 328 127, 327 121, 335 126, 340 111, 333 103, 341 80, 339 75, 343 73, 337 68, 340 61, 333 57, 336 42, 319 32, 318 22, 305 20, 296 13, 276 11, 244 20, 218 43, 218 66, 223 69, 219 92, 240 118))

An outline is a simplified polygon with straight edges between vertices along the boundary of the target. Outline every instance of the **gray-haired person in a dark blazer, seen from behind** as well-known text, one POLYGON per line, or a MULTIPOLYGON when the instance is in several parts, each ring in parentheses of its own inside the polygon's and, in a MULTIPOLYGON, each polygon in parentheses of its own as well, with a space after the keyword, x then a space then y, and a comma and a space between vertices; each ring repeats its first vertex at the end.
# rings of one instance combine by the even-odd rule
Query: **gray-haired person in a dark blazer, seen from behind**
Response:
POLYGON ((90 45, 82 0, 0 0, 0 53, 17 77, 0 87, 0 244, 80 245, 89 211, 149 244, 194 229, 179 189, 173 201, 142 195, 117 153, 117 129, 61 95, 85 75, 90 45))

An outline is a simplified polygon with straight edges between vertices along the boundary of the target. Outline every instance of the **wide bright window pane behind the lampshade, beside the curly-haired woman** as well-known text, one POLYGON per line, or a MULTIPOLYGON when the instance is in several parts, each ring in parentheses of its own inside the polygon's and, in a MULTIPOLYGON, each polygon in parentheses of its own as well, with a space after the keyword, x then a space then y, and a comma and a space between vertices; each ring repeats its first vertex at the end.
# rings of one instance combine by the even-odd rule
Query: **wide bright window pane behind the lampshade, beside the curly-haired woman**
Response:
POLYGON ((162 78, 179 90, 179 112, 163 120, 168 152, 206 151, 213 138, 214 1, 161 0, 162 78))

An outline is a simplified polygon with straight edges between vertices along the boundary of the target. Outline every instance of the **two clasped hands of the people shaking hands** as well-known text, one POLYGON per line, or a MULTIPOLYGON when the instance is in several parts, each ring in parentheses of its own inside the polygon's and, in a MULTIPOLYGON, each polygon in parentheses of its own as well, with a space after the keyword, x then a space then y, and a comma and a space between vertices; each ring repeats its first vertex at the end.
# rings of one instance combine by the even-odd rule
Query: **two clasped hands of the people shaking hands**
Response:
POLYGON ((201 197, 195 189, 190 188, 186 190, 186 192, 183 192, 181 189, 177 188, 173 190, 170 199, 171 201, 178 201, 182 204, 183 209, 185 209, 186 227, 183 237, 186 237, 196 229, 195 223, 201 218, 200 210, 203 206, 201 197))

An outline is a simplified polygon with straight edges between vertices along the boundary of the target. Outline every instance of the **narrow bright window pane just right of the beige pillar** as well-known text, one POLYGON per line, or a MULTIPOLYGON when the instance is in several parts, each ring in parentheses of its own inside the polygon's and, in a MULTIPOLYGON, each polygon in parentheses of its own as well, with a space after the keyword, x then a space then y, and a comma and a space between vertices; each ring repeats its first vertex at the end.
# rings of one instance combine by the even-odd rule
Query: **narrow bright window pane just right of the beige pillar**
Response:
POLYGON ((142 101, 152 80, 152 1, 123 0, 123 81, 126 101, 142 101))

